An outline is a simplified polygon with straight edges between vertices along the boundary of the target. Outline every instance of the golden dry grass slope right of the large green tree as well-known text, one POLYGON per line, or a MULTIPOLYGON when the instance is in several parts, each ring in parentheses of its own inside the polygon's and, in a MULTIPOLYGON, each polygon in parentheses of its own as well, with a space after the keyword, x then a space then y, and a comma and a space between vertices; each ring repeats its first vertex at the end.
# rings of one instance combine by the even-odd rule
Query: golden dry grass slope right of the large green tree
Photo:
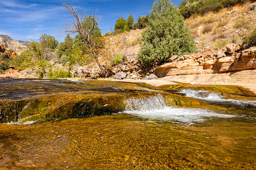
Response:
POLYGON ((256 25, 256 12, 247 11, 248 6, 249 4, 234 6, 232 9, 222 9, 197 18, 191 17, 185 23, 193 38, 212 48, 216 47, 216 40, 220 42, 218 46, 224 42, 240 43, 242 37, 236 31, 240 28, 247 28, 250 32, 256 25), (240 19, 241 17, 244 19, 240 19), (203 26, 203 28, 200 30, 199 26, 203 26), (228 29, 221 31, 223 26, 227 26, 228 29))

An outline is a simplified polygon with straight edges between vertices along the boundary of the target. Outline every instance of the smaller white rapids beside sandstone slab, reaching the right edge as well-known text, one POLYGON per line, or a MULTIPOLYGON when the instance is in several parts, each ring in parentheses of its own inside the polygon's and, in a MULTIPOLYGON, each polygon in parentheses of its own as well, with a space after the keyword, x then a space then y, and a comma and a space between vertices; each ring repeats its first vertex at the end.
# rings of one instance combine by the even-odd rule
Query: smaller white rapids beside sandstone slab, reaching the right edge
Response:
POLYGON ((184 89, 180 91, 184 93, 187 97, 192 97, 200 100, 205 100, 209 102, 220 102, 226 104, 234 104, 240 107, 256 107, 256 101, 254 100, 235 100, 235 99, 224 99, 218 92, 209 92, 203 90, 192 90, 184 89))

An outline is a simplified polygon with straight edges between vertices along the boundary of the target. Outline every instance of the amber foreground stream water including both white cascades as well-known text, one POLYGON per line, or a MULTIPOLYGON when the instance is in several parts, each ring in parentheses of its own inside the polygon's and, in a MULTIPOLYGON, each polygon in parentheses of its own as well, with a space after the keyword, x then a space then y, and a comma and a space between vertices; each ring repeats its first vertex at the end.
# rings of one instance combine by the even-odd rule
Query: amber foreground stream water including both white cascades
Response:
POLYGON ((0 169, 256 169, 256 99, 180 92, 211 104, 159 93, 113 115, 2 123, 0 169))

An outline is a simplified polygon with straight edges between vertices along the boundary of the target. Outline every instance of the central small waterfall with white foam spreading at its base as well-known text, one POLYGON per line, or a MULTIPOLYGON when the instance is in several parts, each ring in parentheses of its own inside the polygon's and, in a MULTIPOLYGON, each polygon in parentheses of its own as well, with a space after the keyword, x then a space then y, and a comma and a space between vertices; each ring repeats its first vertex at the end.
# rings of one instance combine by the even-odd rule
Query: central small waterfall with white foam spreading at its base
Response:
POLYGON ((234 115, 218 114, 208 109, 168 107, 162 95, 126 100, 124 113, 152 120, 179 121, 184 123, 204 122, 206 117, 231 118, 234 115))

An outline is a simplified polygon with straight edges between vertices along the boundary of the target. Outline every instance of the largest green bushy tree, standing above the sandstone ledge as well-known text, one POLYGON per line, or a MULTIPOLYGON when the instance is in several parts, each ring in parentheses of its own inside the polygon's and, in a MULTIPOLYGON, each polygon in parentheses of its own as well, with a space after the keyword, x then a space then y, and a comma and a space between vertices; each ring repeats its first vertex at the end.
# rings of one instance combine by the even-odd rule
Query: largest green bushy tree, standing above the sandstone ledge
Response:
POLYGON ((168 0, 154 2, 148 29, 142 32, 142 37, 142 48, 138 57, 146 66, 156 60, 165 61, 172 55, 195 51, 195 41, 184 23, 184 18, 168 0))

